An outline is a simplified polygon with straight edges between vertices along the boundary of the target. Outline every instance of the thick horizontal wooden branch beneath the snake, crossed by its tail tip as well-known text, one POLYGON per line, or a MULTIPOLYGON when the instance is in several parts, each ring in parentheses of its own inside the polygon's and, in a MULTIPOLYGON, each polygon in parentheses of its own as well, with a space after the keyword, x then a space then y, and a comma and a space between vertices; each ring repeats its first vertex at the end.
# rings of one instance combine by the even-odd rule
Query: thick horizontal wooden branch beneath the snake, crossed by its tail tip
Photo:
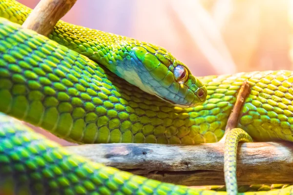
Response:
MULTIPOLYGON (((160 181, 187 186, 224 185, 222 143, 195 146, 165 144, 90 144, 67 146, 95 162, 160 181)), ((239 185, 293 183, 293 143, 239 145, 239 185)))

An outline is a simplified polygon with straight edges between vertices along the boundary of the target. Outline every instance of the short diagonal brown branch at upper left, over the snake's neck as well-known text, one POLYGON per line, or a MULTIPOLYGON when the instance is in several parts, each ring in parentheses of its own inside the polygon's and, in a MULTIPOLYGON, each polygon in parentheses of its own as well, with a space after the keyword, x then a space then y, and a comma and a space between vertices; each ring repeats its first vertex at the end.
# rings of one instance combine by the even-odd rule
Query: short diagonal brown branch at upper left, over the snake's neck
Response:
POLYGON ((54 26, 74 5, 77 0, 41 0, 22 27, 48 36, 54 26))

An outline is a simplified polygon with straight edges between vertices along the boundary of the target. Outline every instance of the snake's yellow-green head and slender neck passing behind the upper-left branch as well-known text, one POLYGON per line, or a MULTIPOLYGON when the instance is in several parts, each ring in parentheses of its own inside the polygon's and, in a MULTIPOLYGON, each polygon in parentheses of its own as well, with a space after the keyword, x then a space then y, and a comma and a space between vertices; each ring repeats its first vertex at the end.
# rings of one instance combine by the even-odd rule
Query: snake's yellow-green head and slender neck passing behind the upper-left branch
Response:
MULTIPOLYGON (((15 0, 0 0, 0 17, 22 24, 30 12, 31 9, 15 0)), ((104 65, 144 91, 171 102, 178 101, 182 105, 192 106, 206 98, 206 95, 198 96, 201 91, 199 88, 206 90, 201 81, 162 47, 62 20, 54 27, 49 38, 104 65), (188 80, 183 84, 174 80, 174 68, 177 65, 188 70, 188 80), (131 74, 131 71, 135 73, 131 74)))

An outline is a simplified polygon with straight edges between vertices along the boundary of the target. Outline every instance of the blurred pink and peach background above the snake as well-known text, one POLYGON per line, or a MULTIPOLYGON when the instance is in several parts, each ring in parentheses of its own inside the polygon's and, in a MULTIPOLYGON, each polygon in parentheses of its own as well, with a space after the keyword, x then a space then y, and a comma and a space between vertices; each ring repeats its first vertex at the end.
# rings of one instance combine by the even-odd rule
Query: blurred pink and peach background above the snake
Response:
POLYGON ((196 76, 293 69, 291 0, 78 0, 63 20, 163 46, 196 76))

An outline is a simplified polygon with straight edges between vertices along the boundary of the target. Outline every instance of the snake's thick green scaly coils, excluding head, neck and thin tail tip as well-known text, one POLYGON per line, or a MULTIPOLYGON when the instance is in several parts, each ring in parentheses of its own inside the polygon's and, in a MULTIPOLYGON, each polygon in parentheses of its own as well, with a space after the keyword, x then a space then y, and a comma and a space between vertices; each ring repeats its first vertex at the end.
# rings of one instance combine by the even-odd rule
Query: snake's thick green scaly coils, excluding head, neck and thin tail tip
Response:
MULTIPOLYGON (((0 4, 0 16, 5 17, 4 11, 0 4)), ((15 18, 17 14, 23 17, 15 12, 15 18)), ((293 140, 293 72, 200 79, 208 89, 207 101, 192 108, 173 107, 83 55, 0 19, 0 112, 58 137, 79 143, 215 142, 224 135, 237 91, 248 80, 251 93, 238 127, 259 141, 293 140)), ((0 117, 0 185, 6 194, 216 194, 133 176, 70 155, 6 115, 0 117)), ((262 193, 292 191, 289 186, 262 193)))

